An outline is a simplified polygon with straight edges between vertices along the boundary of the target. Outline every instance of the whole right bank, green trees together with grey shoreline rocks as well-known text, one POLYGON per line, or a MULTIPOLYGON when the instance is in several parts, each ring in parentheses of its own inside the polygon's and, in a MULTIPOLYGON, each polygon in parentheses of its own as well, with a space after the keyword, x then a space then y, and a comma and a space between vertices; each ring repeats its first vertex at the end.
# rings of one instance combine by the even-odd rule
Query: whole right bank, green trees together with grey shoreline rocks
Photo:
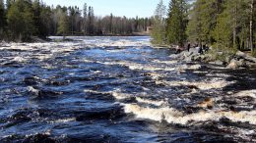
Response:
POLYGON ((170 0, 168 9, 160 0, 152 43, 176 48, 181 59, 197 57, 195 61, 250 68, 256 64, 255 22, 256 0, 170 0), (197 53, 185 52, 192 45, 198 47, 197 53), (204 47, 211 48, 203 54, 204 47))

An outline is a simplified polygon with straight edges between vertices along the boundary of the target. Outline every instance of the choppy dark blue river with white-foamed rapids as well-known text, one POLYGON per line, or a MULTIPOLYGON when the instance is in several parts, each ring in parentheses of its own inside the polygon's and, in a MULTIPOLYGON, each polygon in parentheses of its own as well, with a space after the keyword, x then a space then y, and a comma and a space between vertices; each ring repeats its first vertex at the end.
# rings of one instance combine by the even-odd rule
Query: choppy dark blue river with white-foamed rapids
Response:
POLYGON ((256 142, 255 71, 70 38, 0 45, 0 142, 256 142))

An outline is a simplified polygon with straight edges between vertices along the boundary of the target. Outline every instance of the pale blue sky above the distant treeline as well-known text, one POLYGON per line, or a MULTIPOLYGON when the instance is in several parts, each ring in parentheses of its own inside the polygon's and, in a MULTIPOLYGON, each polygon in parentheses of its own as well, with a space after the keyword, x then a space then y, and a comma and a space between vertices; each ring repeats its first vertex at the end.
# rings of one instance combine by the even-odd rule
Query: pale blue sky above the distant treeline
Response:
MULTIPOLYGON (((84 3, 93 6, 96 16, 105 16, 112 13, 114 16, 151 17, 160 0, 42 0, 47 5, 79 6, 83 9, 84 3)), ((163 0, 167 6, 169 0, 163 0)))

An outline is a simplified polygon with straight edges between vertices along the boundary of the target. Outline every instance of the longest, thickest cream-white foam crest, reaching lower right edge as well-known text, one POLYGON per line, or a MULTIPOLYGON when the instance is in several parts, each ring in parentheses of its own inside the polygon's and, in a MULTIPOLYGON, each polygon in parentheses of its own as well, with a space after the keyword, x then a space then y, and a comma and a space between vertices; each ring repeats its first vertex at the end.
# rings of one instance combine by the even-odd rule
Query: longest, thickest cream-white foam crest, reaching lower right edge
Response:
POLYGON ((140 107, 136 104, 122 104, 124 106, 125 113, 131 113, 139 119, 152 119, 161 121, 166 120, 169 123, 187 124, 189 121, 207 121, 207 120, 219 120, 227 118, 232 121, 249 122, 256 124, 256 111, 243 111, 239 113, 235 112, 222 112, 222 111, 201 111, 199 113, 184 115, 183 113, 176 111, 172 108, 149 108, 140 107))

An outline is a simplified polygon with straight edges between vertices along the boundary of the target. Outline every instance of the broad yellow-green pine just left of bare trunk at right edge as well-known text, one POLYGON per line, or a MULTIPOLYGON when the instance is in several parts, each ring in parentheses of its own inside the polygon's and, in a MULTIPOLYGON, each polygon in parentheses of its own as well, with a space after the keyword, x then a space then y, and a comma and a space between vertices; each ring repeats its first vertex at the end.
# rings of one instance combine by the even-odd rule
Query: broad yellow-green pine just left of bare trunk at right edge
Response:
POLYGON ((249 22, 249 15, 245 11, 248 9, 246 3, 246 0, 224 1, 224 11, 218 15, 217 26, 213 32, 218 47, 244 49, 241 43, 246 40, 249 22))

